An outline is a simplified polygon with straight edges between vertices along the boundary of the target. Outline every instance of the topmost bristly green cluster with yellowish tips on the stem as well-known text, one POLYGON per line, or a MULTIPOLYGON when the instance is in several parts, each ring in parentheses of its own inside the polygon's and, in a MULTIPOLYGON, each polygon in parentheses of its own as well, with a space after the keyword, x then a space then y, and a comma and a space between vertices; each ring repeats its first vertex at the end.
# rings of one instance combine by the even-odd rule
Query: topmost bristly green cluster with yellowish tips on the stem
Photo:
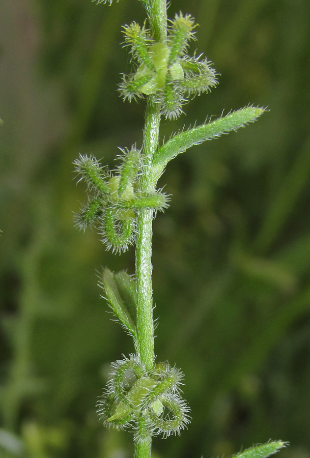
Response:
POLYGON ((209 92, 217 84, 215 70, 202 56, 187 54, 194 40, 194 20, 190 14, 176 14, 170 21, 165 43, 156 43, 146 29, 132 22, 124 26, 125 46, 130 47, 137 69, 123 75, 120 92, 124 99, 153 94, 166 118, 176 119, 188 97, 209 92))

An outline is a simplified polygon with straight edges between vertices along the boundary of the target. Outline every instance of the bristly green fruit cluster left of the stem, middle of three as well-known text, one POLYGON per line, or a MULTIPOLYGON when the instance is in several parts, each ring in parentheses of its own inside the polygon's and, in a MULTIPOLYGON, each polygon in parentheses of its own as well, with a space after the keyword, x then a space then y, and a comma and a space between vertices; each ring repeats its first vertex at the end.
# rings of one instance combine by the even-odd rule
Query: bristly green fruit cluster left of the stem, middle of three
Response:
POLYGON ((134 242, 136 212, 150 208, 164 210, 168 196, 160 190, 138 191, 140 152, 133 146, 122 150, 121 164, 112 174, 93 156, 79 155, 74 161, 78 181, 88 186, 88 203, 76 215, 76 225, 83 231, 97 224, 107 249, 126 251, 134 242))

